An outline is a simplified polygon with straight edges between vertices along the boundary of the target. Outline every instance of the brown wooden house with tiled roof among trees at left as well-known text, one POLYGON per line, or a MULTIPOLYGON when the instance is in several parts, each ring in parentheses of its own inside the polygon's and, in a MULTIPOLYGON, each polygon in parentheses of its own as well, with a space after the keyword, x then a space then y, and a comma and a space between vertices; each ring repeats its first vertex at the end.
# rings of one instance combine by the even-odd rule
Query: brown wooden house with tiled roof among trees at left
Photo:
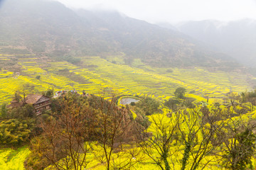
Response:
MULTIPOLYGON (((50 110, 50 98, 38 94, 28 94, 26 103, 33 105, 36 115, 40 115, 43 111, 50 110)), ((23 106, 23 102, 11 101, 9 108, 17 108, 23 106)))

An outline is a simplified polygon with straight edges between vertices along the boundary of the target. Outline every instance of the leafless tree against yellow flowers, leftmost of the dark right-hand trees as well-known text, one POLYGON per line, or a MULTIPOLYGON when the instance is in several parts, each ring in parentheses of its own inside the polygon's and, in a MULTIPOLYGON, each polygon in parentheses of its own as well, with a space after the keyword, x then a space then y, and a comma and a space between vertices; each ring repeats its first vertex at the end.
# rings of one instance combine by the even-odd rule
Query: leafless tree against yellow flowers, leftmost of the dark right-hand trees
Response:
POLYGON ((178 152, 178 149, 175 151, 171 149, 174 147, 171 144, 176 140, 179 120, 174 116, 168 118, 164 114, 151 115, 149 120, 151 121, 149 129, 144 130, 143 127, 138 126, 137 143, 150 158, 146 163, 156 164, 161 169, 169 170, 171 165, 168 159, 178 152))

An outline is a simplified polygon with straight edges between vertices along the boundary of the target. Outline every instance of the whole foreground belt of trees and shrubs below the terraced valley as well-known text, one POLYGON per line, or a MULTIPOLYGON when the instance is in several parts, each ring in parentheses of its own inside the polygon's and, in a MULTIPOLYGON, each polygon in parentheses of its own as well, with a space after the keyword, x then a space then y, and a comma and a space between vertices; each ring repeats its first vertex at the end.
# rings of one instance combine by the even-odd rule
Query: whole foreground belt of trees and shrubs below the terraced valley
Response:
POLYGON ((28 169, 87 169, 92 154, 106 169, 131 169, 137 163, 166 170, 252 169, 256 120, 245 113, 255 111, 256 91, 229 93, 225 105, 189 101, 193 107, 186 105, 185 92, 177 89, 176 103, 164 103, 171 108, 168 114, 166 108, 154 114, 161 103, 152 98, 120 108, 115 97, 71 93, 53 98, 52 110, 38 117, 29 105, 2 106, 0 142, 30 141, 28 169))

